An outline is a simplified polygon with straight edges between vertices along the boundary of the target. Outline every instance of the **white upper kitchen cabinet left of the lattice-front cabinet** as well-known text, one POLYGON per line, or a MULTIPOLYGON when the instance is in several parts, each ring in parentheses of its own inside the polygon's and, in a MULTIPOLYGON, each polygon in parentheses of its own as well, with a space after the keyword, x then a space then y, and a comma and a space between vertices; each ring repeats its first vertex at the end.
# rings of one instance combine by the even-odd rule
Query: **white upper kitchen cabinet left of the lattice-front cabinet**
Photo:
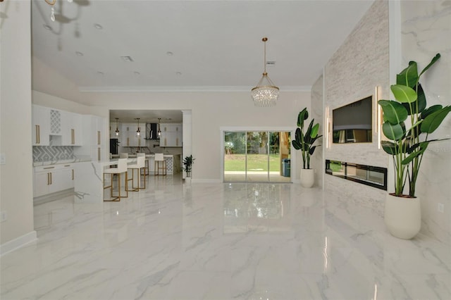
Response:
POLYGON ((32 105, 32 146, 50 144, 50 108, 32 105))

